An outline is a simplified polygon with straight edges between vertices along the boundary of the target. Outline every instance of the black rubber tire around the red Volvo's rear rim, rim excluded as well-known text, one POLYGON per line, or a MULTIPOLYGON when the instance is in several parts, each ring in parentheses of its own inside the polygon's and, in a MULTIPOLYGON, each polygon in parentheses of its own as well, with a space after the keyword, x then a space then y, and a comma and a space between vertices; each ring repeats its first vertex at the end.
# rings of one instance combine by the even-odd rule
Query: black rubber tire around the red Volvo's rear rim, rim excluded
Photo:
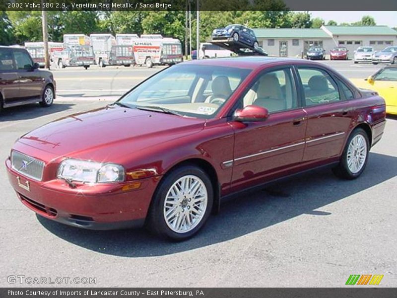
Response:
POLYGON ((361 175, 361 173, 365 169, 365 166, 367 165, 369 149, 370 149, 370 143, 367 133, 361 128, 356 128, 347 139, 346 146, 343 149, 343 153, 342 156, 340 157, 340 161, 338 165, 332 168, 333 173, 341 179, 347 179, 347 180, 356 179, 358 176, 361 175), (353 138, 356 137, 357 135, 361 135, 364 137, 367 149, 366 149, 364 164, 361 166, 361 169, 358 172, 352 172, 348 166, 347 155, 348 155, 348 149, 350 143, 352 142, 353 138))

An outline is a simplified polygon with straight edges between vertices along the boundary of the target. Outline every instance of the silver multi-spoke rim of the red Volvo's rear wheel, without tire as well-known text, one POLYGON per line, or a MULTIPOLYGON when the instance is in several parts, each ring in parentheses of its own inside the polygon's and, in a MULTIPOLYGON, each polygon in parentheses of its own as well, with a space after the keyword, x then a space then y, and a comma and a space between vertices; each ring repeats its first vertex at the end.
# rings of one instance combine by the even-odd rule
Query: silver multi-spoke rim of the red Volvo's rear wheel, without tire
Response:
POLYGON ((349 148, 347 149, 346 161, 349 170, 353 174, 358 173, 364 166, 367 158, 367 151, 367 142, 361 134, 351 139, 349 148))

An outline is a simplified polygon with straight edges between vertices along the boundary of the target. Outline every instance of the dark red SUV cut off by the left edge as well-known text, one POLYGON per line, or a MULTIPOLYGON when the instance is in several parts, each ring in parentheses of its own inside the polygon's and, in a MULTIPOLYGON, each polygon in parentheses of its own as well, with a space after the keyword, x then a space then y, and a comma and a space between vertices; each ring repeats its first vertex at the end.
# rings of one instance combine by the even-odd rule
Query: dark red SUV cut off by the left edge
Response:
POLYGON ((53 74, 38 68, 27 50, 0 46, 0 111, 34 102, 52 105, 56 88, 53 74))

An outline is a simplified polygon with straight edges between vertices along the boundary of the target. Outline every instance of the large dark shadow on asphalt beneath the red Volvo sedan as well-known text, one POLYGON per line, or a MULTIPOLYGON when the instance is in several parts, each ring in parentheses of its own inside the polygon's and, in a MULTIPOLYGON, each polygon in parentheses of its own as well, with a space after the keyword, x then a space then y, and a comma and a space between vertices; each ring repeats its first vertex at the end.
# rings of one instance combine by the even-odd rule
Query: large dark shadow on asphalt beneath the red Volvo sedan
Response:
POLYGON ((349 200, 347 197, 395 177, 396 169, 397 157, 370 153, 366 170, 356 180, 339 180, 330 169, 318 169, 247 192, 222 204, 220 214, 211 216, 196 236, 184 242, 158 239, 143 228, 84 230, 37 218, 56 236, 100 253, 124 257, 168 255, 234 239, 303 214, 332 216, 316 209, 349 200))

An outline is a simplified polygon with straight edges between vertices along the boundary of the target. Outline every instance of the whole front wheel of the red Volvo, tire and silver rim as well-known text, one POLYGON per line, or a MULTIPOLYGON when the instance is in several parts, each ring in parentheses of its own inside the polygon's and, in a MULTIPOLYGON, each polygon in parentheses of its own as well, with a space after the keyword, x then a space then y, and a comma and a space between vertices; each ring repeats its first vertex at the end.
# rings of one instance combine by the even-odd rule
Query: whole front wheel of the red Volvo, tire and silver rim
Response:
POLYGON ((160 182, 147 225, 160 236, 188 239, 205 224, 212 202, 213 189, 207 174, 193 165, 179 167, 160 182))

